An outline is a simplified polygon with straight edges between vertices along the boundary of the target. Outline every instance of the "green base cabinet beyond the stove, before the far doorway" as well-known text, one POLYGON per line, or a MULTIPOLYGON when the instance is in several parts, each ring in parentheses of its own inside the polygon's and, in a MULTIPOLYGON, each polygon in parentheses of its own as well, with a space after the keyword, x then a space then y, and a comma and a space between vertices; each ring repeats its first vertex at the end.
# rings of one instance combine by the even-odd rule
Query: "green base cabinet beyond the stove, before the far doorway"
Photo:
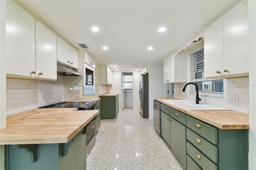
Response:
POLYGON ((116 117, 116 97, 100 97, 101 119, 114 119, 116 117))

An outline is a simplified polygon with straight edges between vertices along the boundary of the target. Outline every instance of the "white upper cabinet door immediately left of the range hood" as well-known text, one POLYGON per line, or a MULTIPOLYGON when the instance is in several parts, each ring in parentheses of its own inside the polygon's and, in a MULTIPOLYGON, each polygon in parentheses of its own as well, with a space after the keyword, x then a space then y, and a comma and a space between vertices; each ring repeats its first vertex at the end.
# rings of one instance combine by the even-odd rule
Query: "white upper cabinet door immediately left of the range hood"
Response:
POLYGON ((36 77, 57 79, 56 34, 36 20, 36 77))

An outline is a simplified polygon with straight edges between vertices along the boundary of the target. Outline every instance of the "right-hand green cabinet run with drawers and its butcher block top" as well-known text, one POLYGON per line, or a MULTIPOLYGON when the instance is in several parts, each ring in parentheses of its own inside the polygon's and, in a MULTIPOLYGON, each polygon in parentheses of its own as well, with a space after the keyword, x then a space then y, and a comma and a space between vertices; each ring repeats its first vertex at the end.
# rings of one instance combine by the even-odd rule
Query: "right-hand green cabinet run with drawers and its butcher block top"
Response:
POLYGON ((248 114, 187 110, 166 101, 180 99, 154 99, 161 103, 161 136, 186 169, 248 170, 248 114))

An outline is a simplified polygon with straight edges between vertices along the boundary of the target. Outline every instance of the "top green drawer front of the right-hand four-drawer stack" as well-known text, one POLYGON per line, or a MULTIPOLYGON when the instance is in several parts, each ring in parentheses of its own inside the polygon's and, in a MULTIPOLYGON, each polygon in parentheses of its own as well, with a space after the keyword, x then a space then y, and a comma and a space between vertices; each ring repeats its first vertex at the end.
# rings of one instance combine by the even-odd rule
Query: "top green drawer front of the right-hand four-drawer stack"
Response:
POLYGON ((197 134, 200 134, 213 144, 218 144, 218 130, 216 128, 211 127, 210 125, 207 125, 206 123, 203 123, 202 121, 194 119, 190 116, 186 116, 186 125, 188 128, 197 134), (198 127, 196 125, 198 125, 198 127))

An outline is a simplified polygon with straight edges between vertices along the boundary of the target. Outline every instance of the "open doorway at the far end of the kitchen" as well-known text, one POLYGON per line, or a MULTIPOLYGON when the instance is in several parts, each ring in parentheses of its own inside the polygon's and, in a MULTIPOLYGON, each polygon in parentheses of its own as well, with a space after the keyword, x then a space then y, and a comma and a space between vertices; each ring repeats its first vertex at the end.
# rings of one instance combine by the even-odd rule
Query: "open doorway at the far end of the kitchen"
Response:
POLYGON ((133 75, 122 73, 122 110, 133 107, 133 75))

